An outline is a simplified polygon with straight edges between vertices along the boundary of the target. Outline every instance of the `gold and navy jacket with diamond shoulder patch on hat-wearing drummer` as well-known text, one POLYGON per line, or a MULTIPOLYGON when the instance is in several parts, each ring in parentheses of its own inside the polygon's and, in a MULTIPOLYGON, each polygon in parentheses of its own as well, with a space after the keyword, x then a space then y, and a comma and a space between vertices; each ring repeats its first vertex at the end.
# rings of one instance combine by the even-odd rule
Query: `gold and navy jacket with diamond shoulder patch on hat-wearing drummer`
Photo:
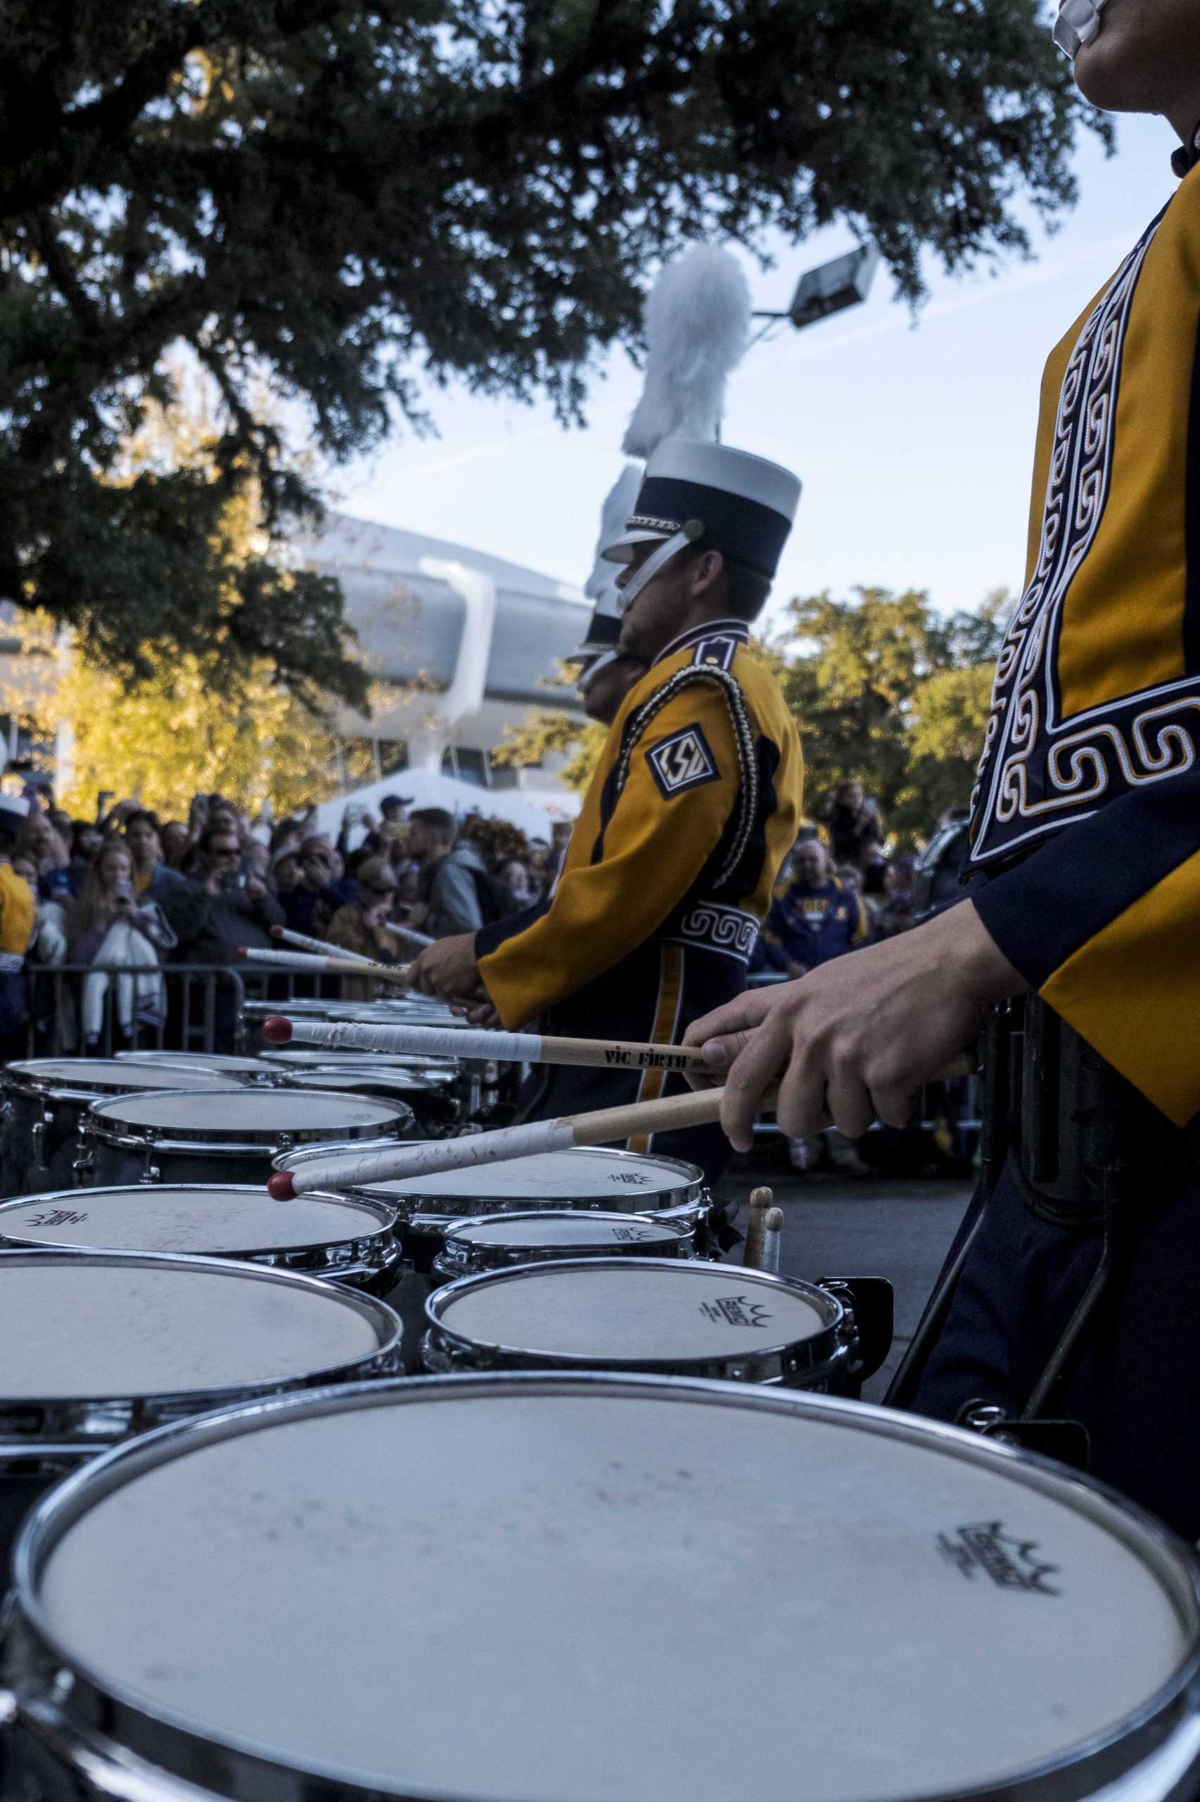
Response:
MULTIPOLYGON (((746 986, 804 787, 796 724, 748 636, 719 620, 663 651, 613 723, 553 894, 476 933, 508 1029, 541 1018, 553 1033, 677 1043, 746 986)), ((530 1117, 674 1087, 659 1070, 560 1069, 530 1117)))

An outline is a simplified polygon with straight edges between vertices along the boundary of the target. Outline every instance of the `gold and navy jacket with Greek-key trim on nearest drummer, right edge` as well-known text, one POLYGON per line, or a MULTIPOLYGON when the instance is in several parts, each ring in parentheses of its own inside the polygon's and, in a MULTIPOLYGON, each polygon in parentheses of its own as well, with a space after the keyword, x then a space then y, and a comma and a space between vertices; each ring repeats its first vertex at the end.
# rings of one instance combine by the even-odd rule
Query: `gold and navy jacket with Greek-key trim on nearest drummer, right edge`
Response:
POLYGON ((1200 1110, 1200 169, 1052 351, 975 905, 1177 1124, 1200 1110))

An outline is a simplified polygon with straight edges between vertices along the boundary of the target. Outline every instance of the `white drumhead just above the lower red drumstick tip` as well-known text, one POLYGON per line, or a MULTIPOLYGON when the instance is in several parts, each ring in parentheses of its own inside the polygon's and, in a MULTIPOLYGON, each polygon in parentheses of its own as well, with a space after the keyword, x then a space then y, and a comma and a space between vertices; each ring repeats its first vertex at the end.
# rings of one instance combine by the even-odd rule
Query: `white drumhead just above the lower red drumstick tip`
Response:
MULTIPOLYGON (((159 1087, 162 1083, 159 1081, 159 1087)), ((187 1132, 344 1132, 395 1124, 396 1110, 371 1096, 324 1096, 306 1088, 222 1088, 214 1094, 119 1096, 95 1108, 99 1119, 126 1126, 159 1126, 178 1137, 187 1132)))

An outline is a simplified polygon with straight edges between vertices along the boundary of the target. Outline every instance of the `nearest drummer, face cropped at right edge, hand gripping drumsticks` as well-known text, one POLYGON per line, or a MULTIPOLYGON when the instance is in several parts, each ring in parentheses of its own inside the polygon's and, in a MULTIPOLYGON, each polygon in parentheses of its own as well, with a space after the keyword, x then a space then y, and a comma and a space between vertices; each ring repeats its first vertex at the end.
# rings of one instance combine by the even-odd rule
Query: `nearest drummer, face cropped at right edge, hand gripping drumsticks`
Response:
POLYGON ((1195 1541, 1200 0, 1067 0, 1054 34, 1086 99, 1169 121, 1180 186, 1045 368, 971 890, 688 1040, 744 1146, 773 1085, 789 1135, 903 1126, 984 1025, 986 1180, 890 1400, 1025 1443, 1076 1422, 1195 1541))

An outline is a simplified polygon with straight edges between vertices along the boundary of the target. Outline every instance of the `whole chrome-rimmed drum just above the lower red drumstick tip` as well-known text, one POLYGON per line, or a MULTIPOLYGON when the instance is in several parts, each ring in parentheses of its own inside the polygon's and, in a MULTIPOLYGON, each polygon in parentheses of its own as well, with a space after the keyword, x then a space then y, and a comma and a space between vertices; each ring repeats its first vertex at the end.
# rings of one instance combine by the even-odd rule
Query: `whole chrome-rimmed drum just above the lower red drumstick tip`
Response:
POLYGON ((398 1101, 306 1088, 157 1090, 88 1108, 81 1124, 86 1184, 254 1182, 286 1146, 396 1139, 413 1128, 398 1101))

